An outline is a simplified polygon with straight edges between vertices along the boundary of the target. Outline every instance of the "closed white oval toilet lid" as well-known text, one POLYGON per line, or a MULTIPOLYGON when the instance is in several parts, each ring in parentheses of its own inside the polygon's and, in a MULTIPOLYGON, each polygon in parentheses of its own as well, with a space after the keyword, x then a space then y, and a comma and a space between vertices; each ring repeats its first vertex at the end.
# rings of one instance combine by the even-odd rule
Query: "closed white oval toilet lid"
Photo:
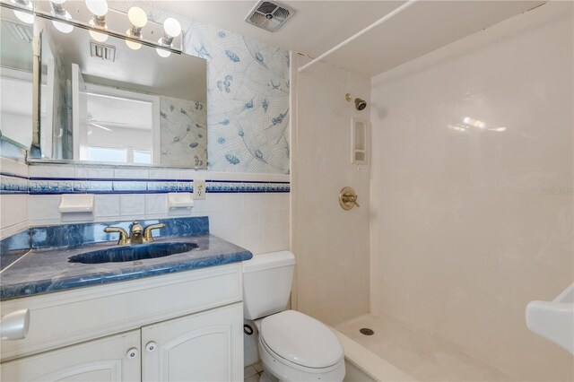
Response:
POLYGON ((295 310, 265 317, 261 339, 277 355, 308 368, 327 368, 343 359, 343 346, 331 329, 295 310))

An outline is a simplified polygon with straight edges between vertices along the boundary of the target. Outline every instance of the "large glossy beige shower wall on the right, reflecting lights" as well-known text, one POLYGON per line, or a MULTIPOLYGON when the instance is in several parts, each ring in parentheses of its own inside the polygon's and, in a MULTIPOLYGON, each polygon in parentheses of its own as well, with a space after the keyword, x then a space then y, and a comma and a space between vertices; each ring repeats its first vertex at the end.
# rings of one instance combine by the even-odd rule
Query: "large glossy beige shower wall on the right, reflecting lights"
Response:
POLYGON ((574 378, 525 322, 574 281, 572 20, 550 2, 371 82, 371 310, 520 380, 574 378))

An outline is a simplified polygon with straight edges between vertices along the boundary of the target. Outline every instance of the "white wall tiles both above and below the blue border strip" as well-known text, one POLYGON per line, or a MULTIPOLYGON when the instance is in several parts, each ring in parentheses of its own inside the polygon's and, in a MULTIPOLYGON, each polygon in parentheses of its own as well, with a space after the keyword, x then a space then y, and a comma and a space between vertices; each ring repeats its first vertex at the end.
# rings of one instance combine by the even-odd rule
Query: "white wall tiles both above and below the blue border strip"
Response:
MULTIPOLYGON (((78 166, 26 166, 2 159, 6 172, 46 178, 157 178, 289 181, 288 175, 223 173, 180 169, 101 169, 78 166)), ((59 224, 60 195, 1 195, 0 236, 11 235, 28 225, 59 224), (20 225, 19 225, 20 224, 20 225), (17 230, 16 230, 17 229, 17 230)), ((254 254, 289 248, 290 195, 207 194, 191 210, 169 210, 166 194, 95 195, 92 221, 161 219, 175 216, 208 216, 216 236, 254 254)), ((89 221, 89 220, 88 220, 89 221)))

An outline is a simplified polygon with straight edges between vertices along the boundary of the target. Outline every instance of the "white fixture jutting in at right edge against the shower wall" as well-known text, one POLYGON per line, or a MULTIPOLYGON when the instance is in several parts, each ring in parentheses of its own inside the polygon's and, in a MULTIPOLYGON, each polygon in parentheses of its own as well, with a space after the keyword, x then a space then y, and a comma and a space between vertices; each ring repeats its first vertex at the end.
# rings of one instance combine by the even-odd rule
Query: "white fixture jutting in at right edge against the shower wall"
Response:
POLYGON ((574 283, 552 301, 530 301, 526 326, 574 354, 574 283))

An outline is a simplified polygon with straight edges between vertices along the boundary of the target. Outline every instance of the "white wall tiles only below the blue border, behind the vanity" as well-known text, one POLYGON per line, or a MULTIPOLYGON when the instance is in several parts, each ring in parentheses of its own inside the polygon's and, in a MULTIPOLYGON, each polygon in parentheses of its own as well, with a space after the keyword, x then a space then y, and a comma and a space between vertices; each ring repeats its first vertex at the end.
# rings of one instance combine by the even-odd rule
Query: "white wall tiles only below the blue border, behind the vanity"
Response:
MULTIPOLYGON (((4 216, 4 198, 3 216, 4 216)), ((21 195, 25 199, 27 195, 21 195)), ((30 225, 62 222, 57 207, 60 195, 29 195, 30 225)), ((22 202, 23 203, 23 202, 22 202)), ((289 249, 290 199, 288 193, 207 194, 194 208, 168 210, 166 194, 96 195, 94 221, 161 219, 173 216, 208 216, 213 235, 254 254, 289 249)), ((4 222, 3 222, 4 227, 4 222)))

